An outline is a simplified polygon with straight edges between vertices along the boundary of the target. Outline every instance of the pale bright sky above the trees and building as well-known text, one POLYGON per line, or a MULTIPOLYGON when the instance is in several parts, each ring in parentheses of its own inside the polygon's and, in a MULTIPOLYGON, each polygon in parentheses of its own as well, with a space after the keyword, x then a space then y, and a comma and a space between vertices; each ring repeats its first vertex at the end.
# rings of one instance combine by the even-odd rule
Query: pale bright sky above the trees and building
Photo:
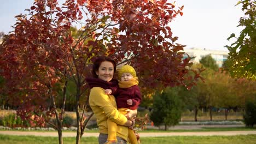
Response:
MULTIPOLYGON (((168 0, 173 2, 172 0, 168 0)), ((34 0, 9 0, 0 4, 0 32, 13 31, 15 15, 27 14, 34 0)), ((173 36, 178 37, 179 44, 185 48, 228 51, 224 46, 231 42, 226 40, 231 33, 240 34, 242 27, 237 27, 240 17, 244 15, 238 0, 176 0, 176 6, 183 8, 183 16, 178 15, 171 23, 173 36)))

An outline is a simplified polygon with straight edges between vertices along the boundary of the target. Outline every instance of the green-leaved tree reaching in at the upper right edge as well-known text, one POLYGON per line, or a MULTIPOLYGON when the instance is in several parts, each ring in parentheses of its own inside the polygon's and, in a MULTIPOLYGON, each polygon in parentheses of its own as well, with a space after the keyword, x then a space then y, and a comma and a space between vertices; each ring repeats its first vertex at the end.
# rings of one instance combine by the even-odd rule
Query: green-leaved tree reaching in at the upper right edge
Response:
POLYGON ((239 37, 232 33, 228 38, 236 39, 230 46, 226 46, 229 50, 229 73, 232 77, 256 80, 256 2, 242 0, 238 4, 242 4, 242 11, 245 12, 245 16, 240 17, 238 27, 244 29, 239 37))

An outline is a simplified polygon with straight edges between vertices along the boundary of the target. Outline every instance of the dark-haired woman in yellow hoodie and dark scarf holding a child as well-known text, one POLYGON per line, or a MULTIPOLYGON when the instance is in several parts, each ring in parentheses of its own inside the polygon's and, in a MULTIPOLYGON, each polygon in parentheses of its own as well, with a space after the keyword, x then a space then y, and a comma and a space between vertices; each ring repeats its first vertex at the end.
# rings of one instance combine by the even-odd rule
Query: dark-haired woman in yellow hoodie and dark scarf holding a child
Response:
MULTIPOLYGON (((100 144, 107 141, 108 118, 118 124, 118 143, 126 143, 128 127, 131 127, 134 123, 119 113, 114 96, 105 94, 105 89, 118 85, 118 81, 113 79, 115 70, 116 64, 112 59, 109 57, 98 57, 92 67, 92 75, 94 78, 86 79, 91 88, 89 104, 96 115, 97 125, 100 130, 100 135, 98 136, 98 143, 100 144)), ((133 114, 135 114, 135 112, 130 111, 127 113, 127 117, 131 118, 133 114)))

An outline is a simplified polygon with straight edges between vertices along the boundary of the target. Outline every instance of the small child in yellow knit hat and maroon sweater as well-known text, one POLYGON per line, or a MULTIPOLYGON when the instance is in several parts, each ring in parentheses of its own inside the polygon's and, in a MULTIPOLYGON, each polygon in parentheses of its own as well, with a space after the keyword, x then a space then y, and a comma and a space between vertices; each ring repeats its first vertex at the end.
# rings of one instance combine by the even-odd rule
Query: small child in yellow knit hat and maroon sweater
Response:
MULTIPOLYGON (((119 87, 110 87, 105 90, 106 94, 113 94, 115 101, 117 101, 118 111, 123 115, 127 113, 127 109, 136 110, 141 103, 141 92, 138 87, 138 77, 136 71, 130 65, 124 65, 118 71, 119 87)), ((117 124, 110 119, 108 124, 108 139, 106 143, 117 142, 117 124)), ((129 129, 130 143, 137 143, 135 133, 132 129, 129 129)))

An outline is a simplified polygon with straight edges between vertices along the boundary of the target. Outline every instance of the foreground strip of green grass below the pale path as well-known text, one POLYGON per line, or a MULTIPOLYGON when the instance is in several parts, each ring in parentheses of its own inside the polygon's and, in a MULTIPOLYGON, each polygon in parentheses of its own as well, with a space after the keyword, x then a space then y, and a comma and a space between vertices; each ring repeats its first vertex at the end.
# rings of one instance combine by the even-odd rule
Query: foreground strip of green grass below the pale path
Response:
MULTIPOLYGON (((256 141, 256 135, 238 135, 238 136, 170 136, 170 137, 142 137, 142 144, 196 144, 196 143, 207 143, 207 144, 253 144, 256 141)), ((10 136, 10 135, 0 135, 0 143, 5 144, 58 144, 57 137, 38 137, 38 136, 10 136)), ((73 144, 75 143, 75 137, 64 137, 63 143, 73 144)), ((81 144, 92 144, 98 143, 97 137, 82 137, 81 144)))

